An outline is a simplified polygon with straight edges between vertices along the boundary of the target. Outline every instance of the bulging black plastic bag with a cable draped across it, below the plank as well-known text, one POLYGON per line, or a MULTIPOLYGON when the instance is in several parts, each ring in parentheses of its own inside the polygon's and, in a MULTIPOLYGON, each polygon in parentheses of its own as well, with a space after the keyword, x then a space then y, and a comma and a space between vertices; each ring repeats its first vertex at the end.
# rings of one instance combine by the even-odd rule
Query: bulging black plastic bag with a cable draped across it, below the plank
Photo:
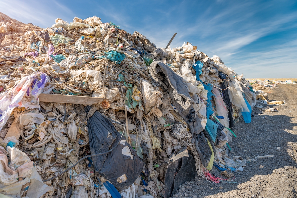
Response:
MULTIPOLYGON (((86 113, 91 109, 86 106, 86 113)), ((127 189, 135 182, 143 169, 143 161, 125 138, 116 131, 113 124, 96 111, 88 120, 89 143, 91 154, 109 151, 116 144, 116 148, 106 154, 92 156, 95 171, 110 181, 117 189, 127 189), (124 151, 130 156, 123 155, 124 151), (126 152, 127 153, 127 152, 126 152)))

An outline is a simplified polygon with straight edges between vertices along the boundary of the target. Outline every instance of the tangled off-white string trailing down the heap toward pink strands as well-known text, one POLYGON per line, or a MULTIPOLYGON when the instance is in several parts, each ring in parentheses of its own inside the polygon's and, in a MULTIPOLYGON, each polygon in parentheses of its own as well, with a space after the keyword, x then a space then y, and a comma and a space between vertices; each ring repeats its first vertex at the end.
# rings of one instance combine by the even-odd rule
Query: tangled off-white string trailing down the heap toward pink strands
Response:
POLYGON ((215 177, 206 169, 206 167, 203 166, 199 158, 197 148, 195 147, 195 145, 192 144, 192 134, 187 129, 187 125, 183 125, 180 122, 172 123, 171 135, 173 135, 173 137, 175 137, 176 139, 181 140, 184 146, 188 146, 189 148, 191 148, 196 161, 196 171, 200 177, 206 178, 207 180, 213 181, 214 183, 219 183, 221 181, 221 178, 215 177))

